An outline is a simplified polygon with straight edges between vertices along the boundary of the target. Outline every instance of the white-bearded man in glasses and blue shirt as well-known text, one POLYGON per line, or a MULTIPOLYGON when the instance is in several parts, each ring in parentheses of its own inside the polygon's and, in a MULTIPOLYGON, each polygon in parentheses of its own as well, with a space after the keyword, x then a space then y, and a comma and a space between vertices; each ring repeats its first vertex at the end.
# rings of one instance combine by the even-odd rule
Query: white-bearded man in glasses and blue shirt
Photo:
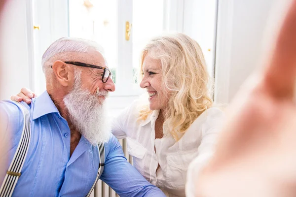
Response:
MULTIPOLYGON (((43 54, 46 91, 29 105, 22 103, 30 114, 31 141, 13 196, 85 197, 98 173, 99 142, 105 146, 100 179, 117 194, 164 196, 126 161, 110 132, 104 100, 115 86, 100 51, 94 42, 61 38, 43 54)), ((0 102, 0 112, 12 132, 11 162, 25 116, 12 101, 0 102)))

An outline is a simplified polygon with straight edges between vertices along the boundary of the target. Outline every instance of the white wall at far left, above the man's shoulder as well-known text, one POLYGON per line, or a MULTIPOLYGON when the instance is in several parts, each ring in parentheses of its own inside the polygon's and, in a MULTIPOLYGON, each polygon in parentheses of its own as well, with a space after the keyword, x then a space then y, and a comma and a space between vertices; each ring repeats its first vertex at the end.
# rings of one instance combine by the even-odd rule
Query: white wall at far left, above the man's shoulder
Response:
POLYGON ((33 47, 30 39, 32 12, 27 12, 29 3, 30 0, 8 0, 4 8, 0 27, 0 99, 9 99, 23 86, 31 87, 33 84, 33 73, 29 72, 33 61, 28 50, 33 47))

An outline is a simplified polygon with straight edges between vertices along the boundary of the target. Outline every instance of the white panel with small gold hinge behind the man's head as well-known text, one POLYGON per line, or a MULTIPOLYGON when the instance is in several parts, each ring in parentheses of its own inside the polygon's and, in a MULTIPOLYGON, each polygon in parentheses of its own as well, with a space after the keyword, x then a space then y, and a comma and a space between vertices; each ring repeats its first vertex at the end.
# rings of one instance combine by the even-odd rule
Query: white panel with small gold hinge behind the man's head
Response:
MULTIPOLYGON (((45 77, 41 66, 44 51, 55 40, 69 36, 68 0, 32 0, 34 33, 34 85, 40 95, 45 91, 45 77)), ((33 28, 33 27, 32 27, 33 28)), ((30 51, 30 49, 29 49, 30 51)))

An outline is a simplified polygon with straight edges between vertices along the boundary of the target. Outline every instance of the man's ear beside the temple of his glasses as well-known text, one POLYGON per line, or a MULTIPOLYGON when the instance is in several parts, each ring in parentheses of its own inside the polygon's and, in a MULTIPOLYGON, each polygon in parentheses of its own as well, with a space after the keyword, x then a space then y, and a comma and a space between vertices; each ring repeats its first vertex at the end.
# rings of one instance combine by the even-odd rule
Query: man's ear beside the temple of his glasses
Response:
POLYGON ((73 84, 74 70, 67 66, 66 63, 58 60, 52 64, 52 70, 56 76, 57 81, 64 87, 73 84))

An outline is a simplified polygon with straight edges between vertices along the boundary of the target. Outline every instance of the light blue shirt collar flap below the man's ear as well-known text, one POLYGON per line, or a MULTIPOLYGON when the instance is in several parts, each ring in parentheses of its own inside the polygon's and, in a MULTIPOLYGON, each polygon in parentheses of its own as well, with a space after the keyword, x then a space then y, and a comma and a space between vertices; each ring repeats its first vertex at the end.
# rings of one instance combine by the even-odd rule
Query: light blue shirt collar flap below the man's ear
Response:
POLYGON ((33 120, 40 118, 46 114, 50 113, 60 113, 52 99, 49 97, 47 91, 42 93, 35 100, 34 112, 33 112, 33 120))

